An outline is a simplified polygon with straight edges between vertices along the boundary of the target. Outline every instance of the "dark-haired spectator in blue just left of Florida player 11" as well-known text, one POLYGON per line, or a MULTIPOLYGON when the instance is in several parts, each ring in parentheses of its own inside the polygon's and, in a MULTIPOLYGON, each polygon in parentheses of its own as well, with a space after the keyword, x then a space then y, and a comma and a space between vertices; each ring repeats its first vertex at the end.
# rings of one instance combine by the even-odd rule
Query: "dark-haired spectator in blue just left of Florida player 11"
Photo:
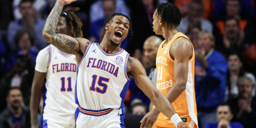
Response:
POLYGON ((19 46, 20 51, 9 54, 6 71, 8 72, 1 79, 0 86, 0 101, 2 107, 5 107, 6 102, 4 96, 6 90, 10 87, 19 87, 22 90, 24 102, 29 104, 31 84, 34 75, 36 52, 31 50, 33 41, 32 33, 28 29, 21 29, 17 31, 15 42, 19 46))

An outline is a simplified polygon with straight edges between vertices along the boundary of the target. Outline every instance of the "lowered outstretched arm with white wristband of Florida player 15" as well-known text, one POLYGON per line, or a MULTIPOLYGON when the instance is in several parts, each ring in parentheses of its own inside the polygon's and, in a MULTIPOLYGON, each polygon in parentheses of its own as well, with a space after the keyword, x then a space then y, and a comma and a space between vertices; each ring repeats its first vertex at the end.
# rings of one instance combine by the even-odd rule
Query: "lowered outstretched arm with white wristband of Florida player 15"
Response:
MULTIPOLYGON (((133 77, 136 85, 143 91, 143 93, 146 94, 148 98, 150 98, 152 103, 168 118, 171 119, 172 117, 171 121, 178 128, 186 128, 186 125, 183 124, 181 118, 179 116, 175 116, 177 114, 173 109, 171 103, 165 97, 165 95, 163 95, 159 90, 157 90, 154 84, 151 82, 151 80, 147 77, 146 71, 143 68, 140 61, 134 57, 129 57, 127 65, 127 72, 129 76, 133 77)), ((153 124, 147 124, 147 126, 144 127, 150 127, 151 125, 153 124)))

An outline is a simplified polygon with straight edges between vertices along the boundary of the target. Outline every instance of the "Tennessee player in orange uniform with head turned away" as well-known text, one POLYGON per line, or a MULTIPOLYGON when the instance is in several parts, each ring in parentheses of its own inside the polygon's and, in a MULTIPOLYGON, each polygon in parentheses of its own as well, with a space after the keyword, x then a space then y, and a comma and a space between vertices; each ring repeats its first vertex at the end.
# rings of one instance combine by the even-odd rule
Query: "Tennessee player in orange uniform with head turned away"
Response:
MULTIPOLYGON (((180 10, 172 3, 159 4, 153 14, 153 31, 165 38, 156 56, 156 88, 166 95, 183 122, 195 128, 198 126, 194 87, 195 55, 191 41, 178 32, 180 22, 180 10)), ((141 127, 143 125, 146 128, 175 128, 175 124, 157 108, 143 117, 141 127)))

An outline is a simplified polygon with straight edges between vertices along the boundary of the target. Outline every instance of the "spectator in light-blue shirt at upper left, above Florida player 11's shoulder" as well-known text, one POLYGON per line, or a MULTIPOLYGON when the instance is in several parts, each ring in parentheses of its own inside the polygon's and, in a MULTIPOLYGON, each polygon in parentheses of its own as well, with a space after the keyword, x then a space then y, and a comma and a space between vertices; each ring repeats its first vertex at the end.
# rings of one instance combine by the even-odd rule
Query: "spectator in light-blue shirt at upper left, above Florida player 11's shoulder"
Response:
POLYGON ((35 34, 35 40, 32 49, 38 51, 48 44, 42 37, 42 30, 45 21, 40 18, 36 18, 33 15, 32 4, 32 0, 22 0, 19 4, 19 11, 23 16, 22 19, 12 21, 8 26, 7 39, 11 51, 16 51, 18 49, 18 47, 15 45, 14 35, 17 30, 23 27, 33 30, 33 33, 35 34))

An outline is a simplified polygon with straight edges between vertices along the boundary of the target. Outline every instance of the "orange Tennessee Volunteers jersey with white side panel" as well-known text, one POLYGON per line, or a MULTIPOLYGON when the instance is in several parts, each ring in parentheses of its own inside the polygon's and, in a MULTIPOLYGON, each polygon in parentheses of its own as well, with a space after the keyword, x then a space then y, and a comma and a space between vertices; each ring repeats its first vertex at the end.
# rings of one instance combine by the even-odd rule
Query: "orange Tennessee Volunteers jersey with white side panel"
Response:
MULTIPOLYGON (((170 56, 170 48, 172 43, 179 37, 188 37, 183 33, 177 33, 171 42, 167 43, 164 47, 165 40, 159 46, 157 56, 156 56, 156 71, 157 80, 156 87, 161 93, 166 95, 168 91, 174 86, 174 59, 170 56)), ((191 41, 189 40, 191 43, 191 41)), ((192 43, 191 43, 192 44, 192 43)), ((193 45, 192 45, 193 47, 193 45)), ((184 51, 186 52, 186 51, 184 51)), ((194 69, 195 69, 195 53, 193 47, 193 56, 188 60, 188 78, 186 89, 181 93, 181 95, 172 103, 172 106, 177 114, 182 118, 183 122, 190 128, 196 128, 197 123, 197 107, 196 107, 196 96, 195 96, 195 85, 194 85, 194 69)), ((153 106, 154 108, 155 106, 153 106)), ((166 127, 166 128, 176 128, 174 124, 170 121, 168 117, 160 113, 155 126, 166 127)))

